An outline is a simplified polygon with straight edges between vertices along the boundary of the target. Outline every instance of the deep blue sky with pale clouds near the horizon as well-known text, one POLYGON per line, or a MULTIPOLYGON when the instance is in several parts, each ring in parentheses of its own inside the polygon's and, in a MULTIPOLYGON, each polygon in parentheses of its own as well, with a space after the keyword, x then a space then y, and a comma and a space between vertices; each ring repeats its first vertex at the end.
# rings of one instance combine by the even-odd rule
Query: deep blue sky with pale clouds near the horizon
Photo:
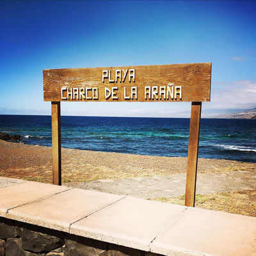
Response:
MULTIPOLYGON (((0 114, 51 115, 44 68, 212 62, 204 113, 256 107, 256 1, 1 1, 0 114)), ((61 115, 189 116, 189 102, 61 102, 61 115)))

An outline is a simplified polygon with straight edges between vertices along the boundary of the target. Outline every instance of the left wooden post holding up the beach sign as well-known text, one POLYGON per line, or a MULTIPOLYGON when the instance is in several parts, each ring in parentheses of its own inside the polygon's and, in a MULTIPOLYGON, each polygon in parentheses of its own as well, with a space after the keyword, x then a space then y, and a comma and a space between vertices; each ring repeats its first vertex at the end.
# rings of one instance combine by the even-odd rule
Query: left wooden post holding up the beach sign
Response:
POLYGON ((60 102, 52 101, 52 184, 61 186, 60 102))

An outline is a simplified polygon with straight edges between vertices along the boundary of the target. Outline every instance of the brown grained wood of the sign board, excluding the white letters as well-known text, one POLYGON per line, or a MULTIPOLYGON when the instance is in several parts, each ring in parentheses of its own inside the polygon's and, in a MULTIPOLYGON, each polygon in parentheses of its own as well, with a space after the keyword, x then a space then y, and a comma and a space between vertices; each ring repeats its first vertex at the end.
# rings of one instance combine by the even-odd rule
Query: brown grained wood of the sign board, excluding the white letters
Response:
MULTIPOLYGON (((109 101, 109 102, 163 102, 187 101, 204 102, 211 98, 211 63, 191 63, 173 65, 147 65, 130 67, 103 67, 103 68, 65 68, 45 69, 44 73, 44 100, 45 101, 109 101), (116 70, 135 69, 135 82, 129 82, 129 77, 124 83, 120 79, 110 83, 108 79, 102 83, 102 70, 110 70, 111 79, 115 79, 116 70), (182 99, 145 99, 145 86, 182 86, 182 99), (124 87, 131 94, 131 87, 136 86, 138 98, 124 99, 124 87), (99 99, 61 99, 61 87, 68 88, 99 88, 99 99), (105 87, 111 89, 118 87, 118 99, 106 99, 105 87)), ((124 74, 123 74, 124 75, 124 74)), ((70 89, 71 90, 71 89, 70 89)), ((67 93, 67 92, 64 92, 67 93)), ((91 92, 90 92, 91 93, 91 92)), ((64 95, 64 94, 63 94, 64 95)), ((67 94, 65 94, 67 95, 67 94)))

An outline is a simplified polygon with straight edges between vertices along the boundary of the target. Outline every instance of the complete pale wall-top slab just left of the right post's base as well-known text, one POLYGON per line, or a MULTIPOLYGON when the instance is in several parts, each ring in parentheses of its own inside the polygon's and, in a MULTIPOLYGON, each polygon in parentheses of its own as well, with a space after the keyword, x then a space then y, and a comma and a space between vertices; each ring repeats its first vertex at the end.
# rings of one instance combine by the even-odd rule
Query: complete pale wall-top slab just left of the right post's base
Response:
POLYGON ((152 240, 186 208, 127 196, 72 224, 70 233, 148 252, 152 240))

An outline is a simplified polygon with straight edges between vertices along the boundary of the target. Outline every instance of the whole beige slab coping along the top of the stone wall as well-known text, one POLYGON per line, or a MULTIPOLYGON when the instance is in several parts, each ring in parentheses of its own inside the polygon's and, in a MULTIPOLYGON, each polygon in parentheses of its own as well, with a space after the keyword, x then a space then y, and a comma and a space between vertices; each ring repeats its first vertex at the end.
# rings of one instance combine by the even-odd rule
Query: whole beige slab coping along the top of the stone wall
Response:
POLYGON ((0 179, 0 216, 162 255, 256 255, 256 218, 0 179))

